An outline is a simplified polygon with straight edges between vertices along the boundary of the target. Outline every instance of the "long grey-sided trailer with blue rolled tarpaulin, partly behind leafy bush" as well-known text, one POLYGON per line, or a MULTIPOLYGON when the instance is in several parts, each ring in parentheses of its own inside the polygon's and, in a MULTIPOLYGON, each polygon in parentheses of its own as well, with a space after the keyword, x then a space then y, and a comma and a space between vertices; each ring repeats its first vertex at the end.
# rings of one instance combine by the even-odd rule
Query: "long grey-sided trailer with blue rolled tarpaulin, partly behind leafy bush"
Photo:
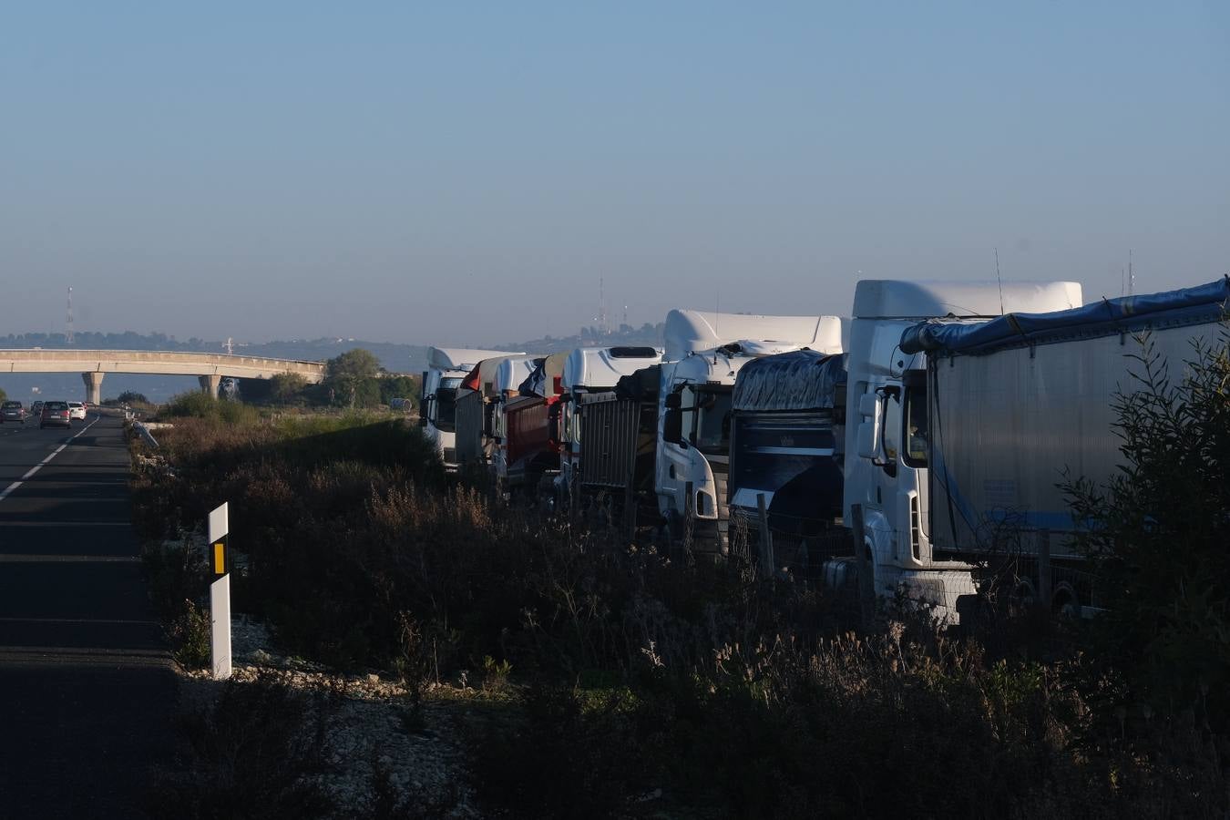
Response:
POLYGON ((899 416, 903 427, 882 427, 875 449, 899 449, 903 463, 925 468, 930 503, 919 509, 916 550, 938 570, 945 599, 958 595, 958 612, 973 600, 964 572, 942 569, 953 564, 979 564, 1018 601, 1054 612, 1102 609, 1074 537, 1087 522, 1070 514, 1064 483, 1105 486, 1119 472, 1116 396, 1139 386, 1146 357, 1178 382, 1193 343, 1218 343, 1228 304, 1223 278, 1058 312, 905 328, 898 349, 911 361, 899 401, 882 398, 886 418, 899 416))

